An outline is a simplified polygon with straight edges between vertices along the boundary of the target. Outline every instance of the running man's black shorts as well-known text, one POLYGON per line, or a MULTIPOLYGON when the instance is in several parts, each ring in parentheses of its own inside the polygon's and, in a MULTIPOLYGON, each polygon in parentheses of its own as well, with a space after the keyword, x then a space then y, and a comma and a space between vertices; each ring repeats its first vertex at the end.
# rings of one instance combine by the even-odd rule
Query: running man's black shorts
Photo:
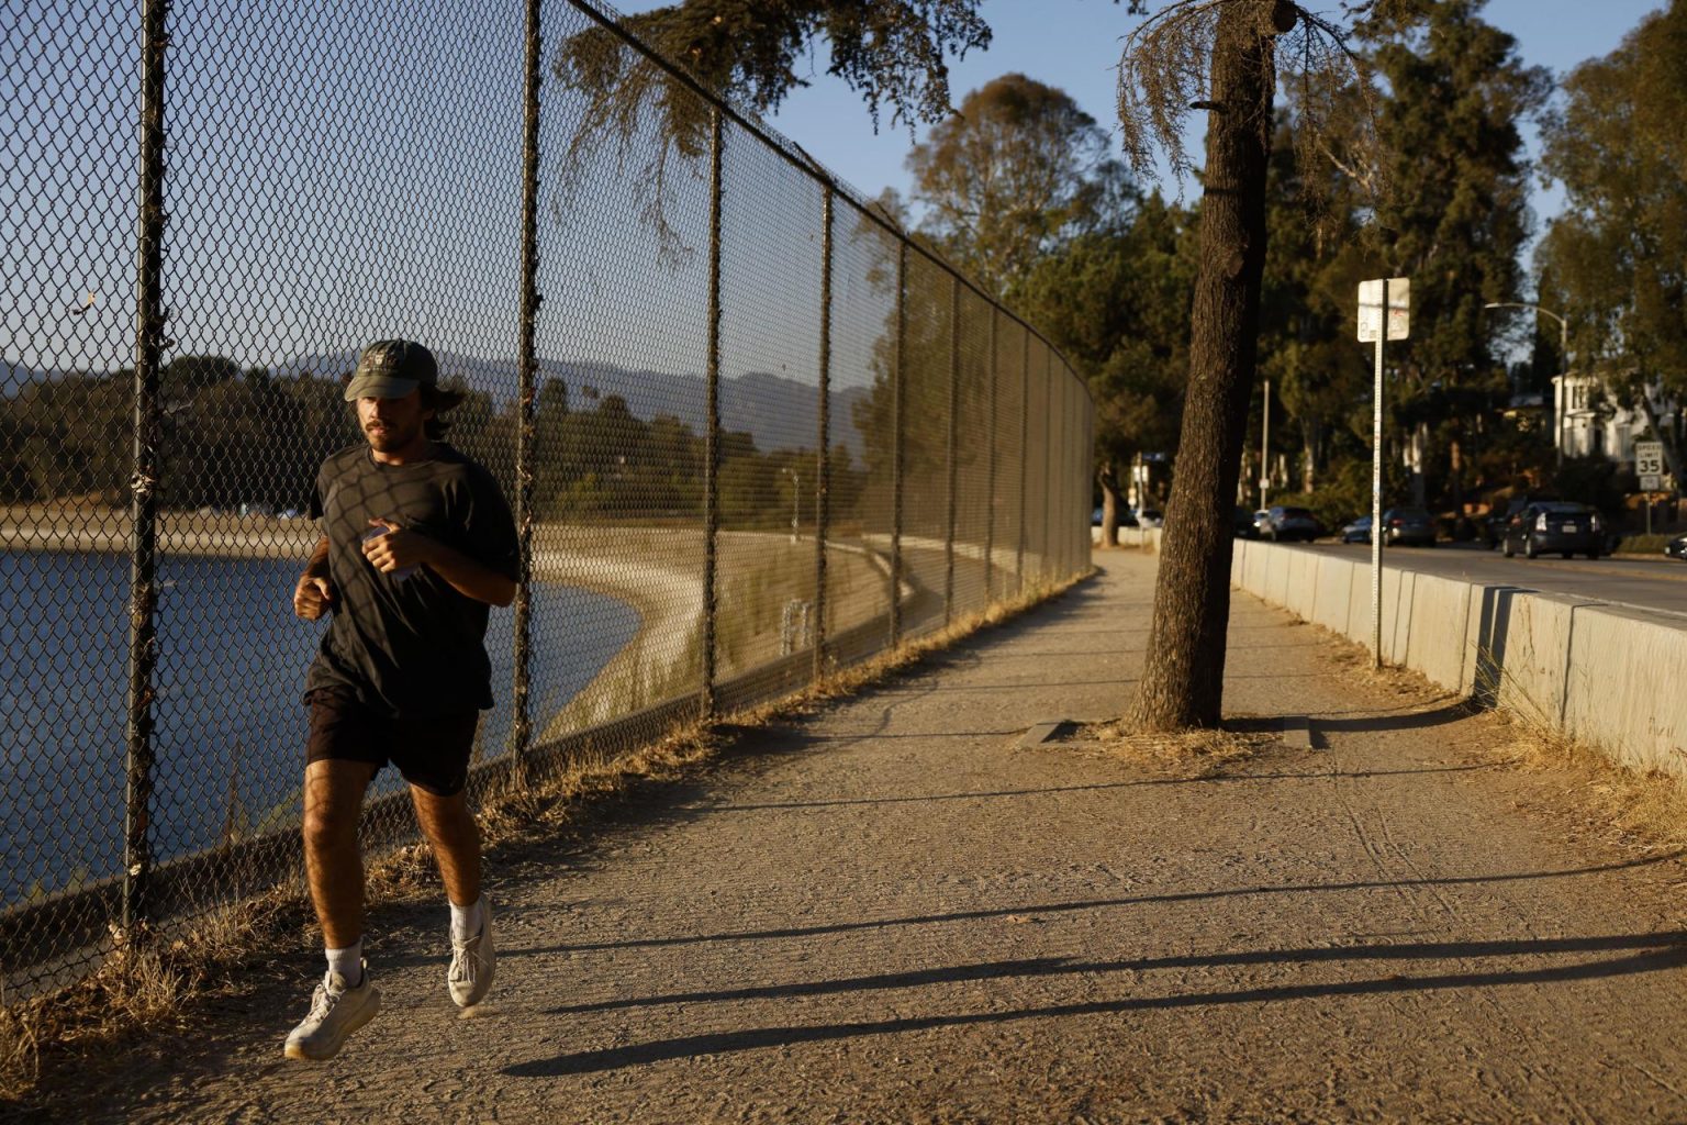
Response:
POLYGON ((322 761, 398 767, 405 781, 435 796, 455 796, 469 783, 469 756, 481 712, 391 719, 371 712, 349 692, 317 688, 310 705, 305 764, 322 761))

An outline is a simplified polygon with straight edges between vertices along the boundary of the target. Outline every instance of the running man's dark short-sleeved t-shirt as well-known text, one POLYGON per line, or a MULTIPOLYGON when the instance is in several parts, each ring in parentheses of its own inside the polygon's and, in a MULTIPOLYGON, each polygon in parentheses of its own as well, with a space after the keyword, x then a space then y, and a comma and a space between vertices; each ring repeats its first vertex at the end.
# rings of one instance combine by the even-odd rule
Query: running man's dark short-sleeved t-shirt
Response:
POLYGON ((310 514, 329 541, 332 622, 310 663, 305 693, 349 690, 366 707, 405 719, 461 715, 493 705, 486 656, 489 606, 464 597, 427 567, 381 573, 363 557, 369 519, 388 519, 454 546, 515 580, 515 521, 486 469, 450 445, 428 460, 383 466, 364 444, 317 472, 310 514))

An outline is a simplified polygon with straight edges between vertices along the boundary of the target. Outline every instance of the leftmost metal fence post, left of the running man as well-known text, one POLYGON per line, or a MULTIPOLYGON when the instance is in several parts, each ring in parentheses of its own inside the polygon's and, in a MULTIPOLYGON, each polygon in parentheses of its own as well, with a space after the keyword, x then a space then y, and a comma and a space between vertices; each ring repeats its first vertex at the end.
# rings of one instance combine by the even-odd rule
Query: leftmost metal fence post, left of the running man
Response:
POLYGON ((152 675, 159 658, 159 364, 164 351, 164 52, 169 0, 145 0, 140 37, 140 182, 135 253, 135 442, 128 479, 128 730, 123 936, 142 934, 152 875, 152 675))

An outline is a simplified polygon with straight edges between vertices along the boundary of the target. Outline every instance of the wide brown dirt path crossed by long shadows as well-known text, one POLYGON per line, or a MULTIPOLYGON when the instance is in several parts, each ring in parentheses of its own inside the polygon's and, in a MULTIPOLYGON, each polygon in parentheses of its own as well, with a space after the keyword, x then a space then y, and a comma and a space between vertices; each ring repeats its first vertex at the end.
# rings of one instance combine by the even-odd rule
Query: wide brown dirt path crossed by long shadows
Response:
MULTIPOLYGON (((1488 717, 1356 686, 1235 595, 1226 713, 1311 715, 1208 779, 1076 746, 1142 661, 1152 560, 707 781, 494 867, 494 1002, 388 912, 378 1020, 282 1059, 317 963, 108 1090, 111 1120, 1687 1118, 1679 857, 1566 842, 1488 717)), ((393 914, 398 914, 396 918, 393 914)))

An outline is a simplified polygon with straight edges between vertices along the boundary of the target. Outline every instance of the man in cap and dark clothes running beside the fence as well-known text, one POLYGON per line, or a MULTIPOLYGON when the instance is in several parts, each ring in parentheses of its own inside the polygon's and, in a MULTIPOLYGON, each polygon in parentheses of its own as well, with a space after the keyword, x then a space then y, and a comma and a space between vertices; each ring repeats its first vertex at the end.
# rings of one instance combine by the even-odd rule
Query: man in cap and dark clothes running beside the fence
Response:
POLYGON ((422 344, 378 341, 346 401, 364 440, 317 472, 322 526, 294 589, 305 621, 331 614, 305 681, 304 848, 327 973, 287 1056, 331 1059, 368 1024, 381 993, 363 961, 363 794, 386 762, 410 783, 417 821, 450 899, 450 999, 479 1004, 493 983, 493 914, 481 894, 481 837, 464 786, 479 712, 493 705, 489 606, 515 599, 518 543, 493 476, 444 444, 439 388, 422 344))

